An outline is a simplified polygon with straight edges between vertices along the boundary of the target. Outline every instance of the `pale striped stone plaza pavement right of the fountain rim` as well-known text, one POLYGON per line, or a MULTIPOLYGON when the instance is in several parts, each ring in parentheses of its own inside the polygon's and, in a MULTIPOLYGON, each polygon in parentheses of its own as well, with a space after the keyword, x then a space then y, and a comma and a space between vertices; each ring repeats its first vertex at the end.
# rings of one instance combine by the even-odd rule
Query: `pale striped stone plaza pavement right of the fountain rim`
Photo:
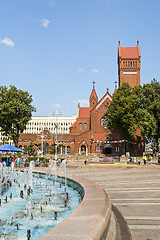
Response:
POLYGON ((69 163, 67 173, 93 180, 109 194, 133 240, 160 240, 160 166, 69 163))

